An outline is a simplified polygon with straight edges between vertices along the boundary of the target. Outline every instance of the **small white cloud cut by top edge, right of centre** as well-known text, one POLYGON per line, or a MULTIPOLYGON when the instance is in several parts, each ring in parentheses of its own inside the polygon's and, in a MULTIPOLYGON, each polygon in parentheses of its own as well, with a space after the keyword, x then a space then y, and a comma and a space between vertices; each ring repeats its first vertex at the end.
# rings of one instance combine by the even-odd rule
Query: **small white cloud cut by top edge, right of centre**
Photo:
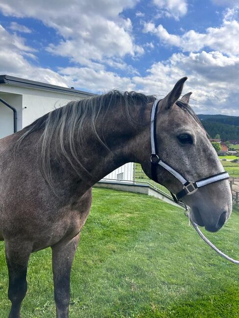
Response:
POLYGON ((188 12, 186 0, 153 0, 153 3, 167 17, 173 17, 176 20, 179 20, 180 17, 186 15, 188 12))

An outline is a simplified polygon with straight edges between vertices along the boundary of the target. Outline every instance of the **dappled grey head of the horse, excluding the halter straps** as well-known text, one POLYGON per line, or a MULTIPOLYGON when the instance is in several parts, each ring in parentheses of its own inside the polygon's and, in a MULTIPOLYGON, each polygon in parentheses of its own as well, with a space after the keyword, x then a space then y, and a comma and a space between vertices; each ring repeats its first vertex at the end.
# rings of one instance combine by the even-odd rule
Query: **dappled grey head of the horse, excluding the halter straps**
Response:
MULTIPOLYGON (((154 134, 157 155, 161 162, 167 163, 189 182, 218 174, 223 176, 221 173, 224 172, 224 168, 216 151, 188 105, 190 93, 178 100, 186 79, 179 80, 173 90, 158 104, 154 134)), ((157 179, 173 193, 185 189, 184 182, 179 181, 164 166, 156 163, 154 178, 152 172, 147 171, 152 179, 157 179)), ((191 207, 192 220, 212 232, 223 226, 232 210, 229 181, 217 181, 217 179, 220 177, 210 179, 209 184, 198 187, 195 191, 190 185, 189 190, 193 193, 188 193, 189 191, 185 189, 184 194, 187 195, 181 199, 191 207)))

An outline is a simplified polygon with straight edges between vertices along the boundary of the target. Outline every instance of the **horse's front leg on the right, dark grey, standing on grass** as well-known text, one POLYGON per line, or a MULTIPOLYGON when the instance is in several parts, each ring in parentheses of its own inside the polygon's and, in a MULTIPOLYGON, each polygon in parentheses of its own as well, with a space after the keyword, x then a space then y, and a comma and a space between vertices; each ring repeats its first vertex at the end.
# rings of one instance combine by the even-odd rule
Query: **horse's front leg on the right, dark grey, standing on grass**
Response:
POLYGON ((69 317, 70 275, 79 237, 80 233, 68 243, 57 244, 51 247, 57 318, 69 317))

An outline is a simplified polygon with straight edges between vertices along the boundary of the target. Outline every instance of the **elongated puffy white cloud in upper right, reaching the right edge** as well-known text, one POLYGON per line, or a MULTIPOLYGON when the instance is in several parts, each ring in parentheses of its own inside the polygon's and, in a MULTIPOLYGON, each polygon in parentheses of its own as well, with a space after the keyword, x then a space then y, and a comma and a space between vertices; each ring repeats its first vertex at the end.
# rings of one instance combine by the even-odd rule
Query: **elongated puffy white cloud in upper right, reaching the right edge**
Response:
POLYGON ((232 19, 235 12, 230 9, 225 13, 220 27, 209 27, 205 33, 194 30, 183 35, 167 32, 162 24, 144 23, 143 32, 155 34, 164 45, 179 47, 184 52, 198 52, 205 47, 220 51, 228 55, 239 54, 239 22, 232 19))

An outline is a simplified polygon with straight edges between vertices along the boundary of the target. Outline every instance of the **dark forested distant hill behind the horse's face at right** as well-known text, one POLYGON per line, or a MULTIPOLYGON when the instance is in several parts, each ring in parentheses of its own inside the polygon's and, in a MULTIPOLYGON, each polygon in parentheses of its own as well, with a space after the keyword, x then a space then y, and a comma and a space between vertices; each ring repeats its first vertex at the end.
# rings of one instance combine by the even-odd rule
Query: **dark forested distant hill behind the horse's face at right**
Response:
POLYGON ((239 116, 199 114, 198 118, 212 138, 219 134, 223 141, 239 140, 239 116))

